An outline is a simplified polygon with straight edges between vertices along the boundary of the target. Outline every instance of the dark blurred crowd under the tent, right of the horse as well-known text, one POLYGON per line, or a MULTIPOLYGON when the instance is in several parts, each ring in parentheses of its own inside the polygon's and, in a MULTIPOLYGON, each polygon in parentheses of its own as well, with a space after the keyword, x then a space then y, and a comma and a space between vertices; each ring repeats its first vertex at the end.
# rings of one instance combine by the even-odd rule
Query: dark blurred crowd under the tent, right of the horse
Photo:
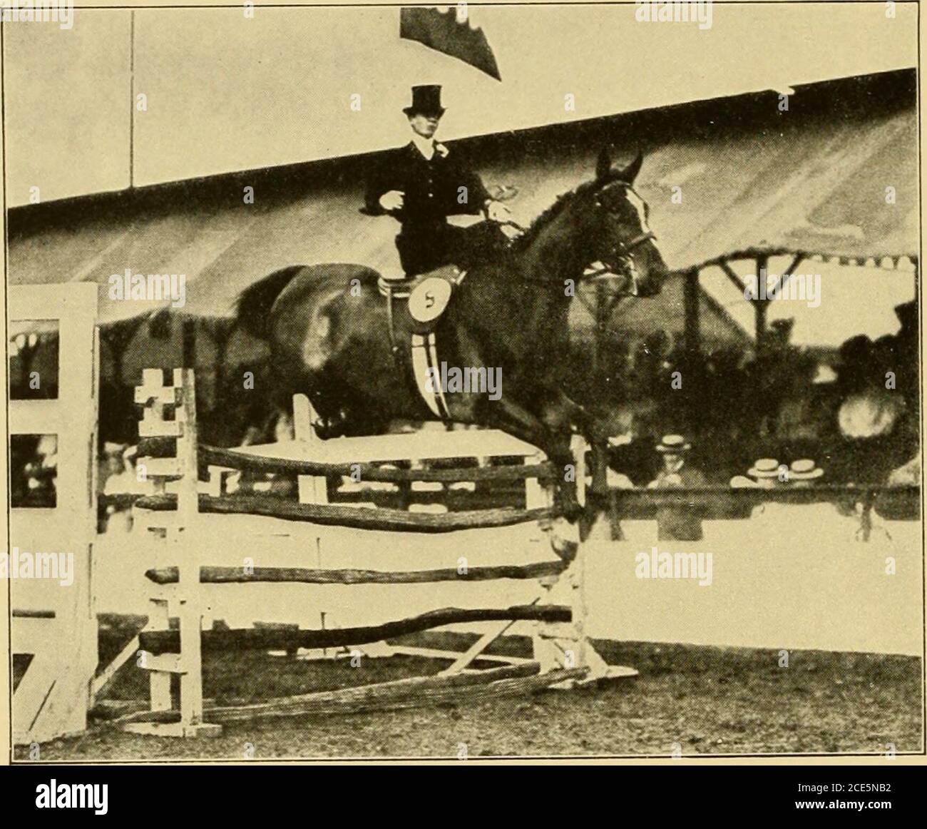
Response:
POLYGON ((612 465, 644 486, 658 466, 654 441, 682 434, 690 463, 715 483, 770 455, 814 458, 832 483, 884 482, 919 450, 917 309, 895 312, 898 333, 848 339, 833 355, 792 345, 791 320, 772 323, 759 352, 692 355, 663 331, 616 342, 607 382, 615 400, 605 404, 619 438, 612 465))

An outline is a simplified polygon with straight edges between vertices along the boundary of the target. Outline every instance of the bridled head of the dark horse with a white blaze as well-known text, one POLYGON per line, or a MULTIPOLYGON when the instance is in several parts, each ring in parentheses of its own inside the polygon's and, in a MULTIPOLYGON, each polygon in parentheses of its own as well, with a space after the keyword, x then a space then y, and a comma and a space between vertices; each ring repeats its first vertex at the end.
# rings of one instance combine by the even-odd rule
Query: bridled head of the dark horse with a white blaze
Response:
POLYGON ((660 292, 667 265, 647 223, 650 208, 634 189, 643 155, 625 169, 612 167, 607 147, 596 165, 595 181, 582 193, 583 224, 589 239, 585 281, 617 283, 617 293, 652 297, 660 292))

